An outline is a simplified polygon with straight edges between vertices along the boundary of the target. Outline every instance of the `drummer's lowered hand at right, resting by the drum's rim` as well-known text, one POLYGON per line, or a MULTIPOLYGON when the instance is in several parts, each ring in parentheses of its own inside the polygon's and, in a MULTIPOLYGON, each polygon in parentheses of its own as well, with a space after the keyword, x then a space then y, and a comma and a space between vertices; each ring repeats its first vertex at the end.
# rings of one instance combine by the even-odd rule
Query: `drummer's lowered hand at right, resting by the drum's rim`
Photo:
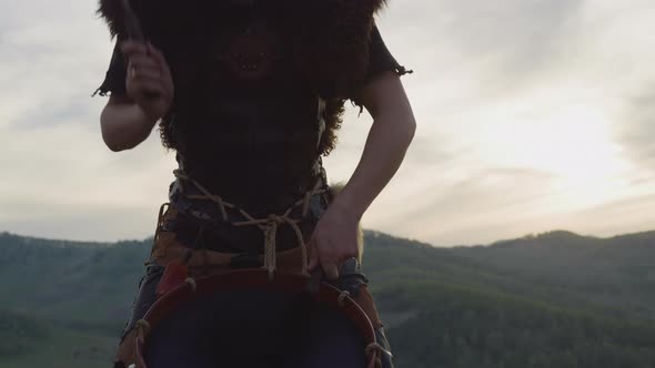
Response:
POLYGON ((325 211, 308 244, 310 272, 322 268, 330 280, 339 278, 341 265, 359 257, 357 226, 360 219, 347 208, 332 205, 325 211))

